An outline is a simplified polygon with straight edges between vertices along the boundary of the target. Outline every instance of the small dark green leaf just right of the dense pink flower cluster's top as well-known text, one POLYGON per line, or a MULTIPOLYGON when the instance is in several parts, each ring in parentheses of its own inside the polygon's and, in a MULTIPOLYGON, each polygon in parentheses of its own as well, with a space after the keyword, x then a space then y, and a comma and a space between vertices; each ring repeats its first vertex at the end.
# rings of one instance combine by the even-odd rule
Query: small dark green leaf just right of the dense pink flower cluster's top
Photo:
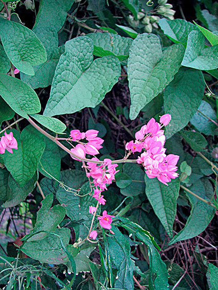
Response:
POLYGON ((186 142, 190 145, 191 149, 194 151, 204 151, 207 146, 207 140, 205 137, 197 132, 193 131, 181 131, 180 132, 186 142))

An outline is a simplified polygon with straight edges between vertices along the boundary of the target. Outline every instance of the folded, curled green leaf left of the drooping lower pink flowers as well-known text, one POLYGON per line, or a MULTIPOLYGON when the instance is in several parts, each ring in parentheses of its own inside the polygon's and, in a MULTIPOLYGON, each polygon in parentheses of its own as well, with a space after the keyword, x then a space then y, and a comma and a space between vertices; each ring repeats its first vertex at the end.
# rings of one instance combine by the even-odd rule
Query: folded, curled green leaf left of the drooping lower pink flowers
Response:
POLYGON ((53 193, 50 193, 42 201, 42 207, 37 213, 37 220, 34 229, 30 231, 22 240, 37 241, 42 240, 49 235, 49 233, 41 232, 30 237, 32 234, 40 231, 54 232, 57 225, 64 219, 66 211, 61 205, 54 205, 53 203, 53 193))

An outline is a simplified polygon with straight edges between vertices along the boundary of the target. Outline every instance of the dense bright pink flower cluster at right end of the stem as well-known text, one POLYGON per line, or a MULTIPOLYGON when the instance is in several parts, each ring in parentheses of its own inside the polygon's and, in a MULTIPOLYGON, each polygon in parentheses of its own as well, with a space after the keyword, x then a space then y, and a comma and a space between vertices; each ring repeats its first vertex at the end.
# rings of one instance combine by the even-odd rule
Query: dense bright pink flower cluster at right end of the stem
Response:
POLYGON ((152 118, 147 125, 144 125, 140 131, 135 133, 135 142, 130 141, 126 144, 126 150, 134 152, 145 151, 137 159, 138 164, 143 164, 146 174, 149 178, 157 177, 159 181, 167 184, 171 178, 176 178, 179 174, 176 164, 179 156, 174 154, 165 154, 166 149, 164 130, 161 128, 168 125, 171 115, 165 114, 160 118, 158 123, 152 118))

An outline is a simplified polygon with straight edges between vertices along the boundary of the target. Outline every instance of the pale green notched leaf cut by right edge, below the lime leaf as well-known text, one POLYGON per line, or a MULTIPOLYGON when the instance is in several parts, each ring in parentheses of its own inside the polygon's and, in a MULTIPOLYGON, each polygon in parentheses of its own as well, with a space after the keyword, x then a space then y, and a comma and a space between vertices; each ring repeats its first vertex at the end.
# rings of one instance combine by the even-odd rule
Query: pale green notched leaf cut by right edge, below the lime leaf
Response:
POLYGON ((200 31, 191 31, 182 66, 197 70, 218 68, 218 45, 205 47, 205 38, 200 31))

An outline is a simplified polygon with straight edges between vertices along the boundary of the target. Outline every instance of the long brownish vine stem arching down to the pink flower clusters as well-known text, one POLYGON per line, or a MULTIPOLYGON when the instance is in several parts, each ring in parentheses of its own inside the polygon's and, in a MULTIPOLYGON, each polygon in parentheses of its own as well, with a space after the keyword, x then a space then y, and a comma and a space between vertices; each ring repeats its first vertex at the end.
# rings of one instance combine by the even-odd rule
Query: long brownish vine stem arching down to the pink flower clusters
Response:
MULTIPOLYGON (((88 159, 88 158, 81 158, 81 157, 77 156, 76 154, 72 153, 67 147, 65 147, 61 142, 59 142, 56 137, 50 135, 45 130, 43 130, 42 128, 40 128, 30 117, 28 118, 28 121, 31 123, 31 125, 36 130, 38 130, 43 135, 45 135, 46 137, 48 137, 50 140, 52 140, 53 142, 55 142, 57 144, 57 146, 61 147, 64 151, 66 151, 68 154, 72 155, 76 159, 81 160, 81 161, 96 163, 96 164, 103 164, 104 163, 104 161, 100 161, 100 160, 95 161, 95 160, 91 160, 91 159, 88 159)), ((130 160, 130 159, 123 158, 123 159, 113 160, 111 163, 112 164, 116 164, 116 163, 125 163, 125 162, 136 163, 137 160, 136 159, 130 160)))

